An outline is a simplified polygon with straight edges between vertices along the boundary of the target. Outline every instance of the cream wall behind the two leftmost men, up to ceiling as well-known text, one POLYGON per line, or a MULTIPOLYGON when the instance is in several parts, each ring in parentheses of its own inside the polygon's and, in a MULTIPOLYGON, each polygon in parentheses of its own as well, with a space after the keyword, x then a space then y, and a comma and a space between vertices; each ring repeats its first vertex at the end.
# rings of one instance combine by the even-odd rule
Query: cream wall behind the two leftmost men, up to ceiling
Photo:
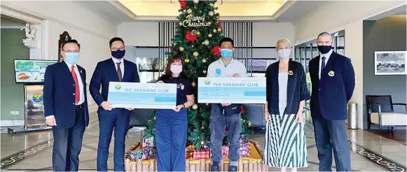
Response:
MULTIPOLYGON (((87 83, 90 82, 97 62, 110 57, 109 41, 116 36, 118 24, 93 13, 78 1, 1 1, 1 6, 44 20, 44 52, 42 57, 36 59, 57 60, 58 40, 64 31, 77 39, 81 44, 78 64, 87 72, 87 83)), ((87 96, 89 110, 95 112, 97 106, 89 93, 87 96)))

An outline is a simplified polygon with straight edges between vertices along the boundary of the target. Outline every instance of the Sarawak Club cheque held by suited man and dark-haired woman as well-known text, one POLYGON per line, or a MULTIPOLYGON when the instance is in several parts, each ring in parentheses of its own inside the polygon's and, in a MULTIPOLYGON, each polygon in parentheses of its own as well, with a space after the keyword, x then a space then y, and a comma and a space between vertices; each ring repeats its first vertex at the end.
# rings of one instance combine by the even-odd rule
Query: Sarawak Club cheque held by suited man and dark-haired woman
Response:
POLYGON ((177 103, 177 85, 110 82, 107 101, 114 108, 173 109, 177 103))

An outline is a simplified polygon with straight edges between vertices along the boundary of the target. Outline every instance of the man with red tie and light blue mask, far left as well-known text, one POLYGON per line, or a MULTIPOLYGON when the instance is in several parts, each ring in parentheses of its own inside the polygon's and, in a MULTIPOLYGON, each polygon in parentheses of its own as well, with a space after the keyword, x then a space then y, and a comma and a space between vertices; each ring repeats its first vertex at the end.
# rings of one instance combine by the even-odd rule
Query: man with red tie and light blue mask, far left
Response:
POLYGON ((66 41, 61 49, 64 61, 46 69, 44 114, 53 127, 53 171, 78 171, 83 132, 89 124, 86 72, 76 64, 78 41, 66 41))

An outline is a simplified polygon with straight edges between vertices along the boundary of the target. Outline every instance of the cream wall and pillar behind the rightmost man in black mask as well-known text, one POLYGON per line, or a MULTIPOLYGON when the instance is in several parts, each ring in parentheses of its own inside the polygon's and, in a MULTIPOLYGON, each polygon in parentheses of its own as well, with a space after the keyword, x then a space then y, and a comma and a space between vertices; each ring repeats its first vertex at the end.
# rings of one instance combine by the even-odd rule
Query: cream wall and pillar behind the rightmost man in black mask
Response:
POLYGON ((350 57, 356 85, 350 102, 358 104, 357 127, 363 128, 363 20, 406 4, 406 1, 329 1, 294 22, 295 44, 317 38, 323 31, 345 30, 345 56, 350 57))

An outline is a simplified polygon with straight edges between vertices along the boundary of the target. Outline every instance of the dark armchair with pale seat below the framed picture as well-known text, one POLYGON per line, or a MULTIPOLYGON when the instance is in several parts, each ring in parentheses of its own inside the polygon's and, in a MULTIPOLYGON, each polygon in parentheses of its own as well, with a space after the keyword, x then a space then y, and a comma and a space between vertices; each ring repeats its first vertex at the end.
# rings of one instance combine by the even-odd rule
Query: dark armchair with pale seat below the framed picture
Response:
POLYGON ((379 126, 379 132, 382 127, 394 127, 407 126, 407 105, 406 103, 393 103, 392 96, 366 96, 367 112, 368 112, 368 130, 371 129, 371 125, 375 124, 379 126), (393 106, 404 106, 406 113, 394 113, 393 106))

